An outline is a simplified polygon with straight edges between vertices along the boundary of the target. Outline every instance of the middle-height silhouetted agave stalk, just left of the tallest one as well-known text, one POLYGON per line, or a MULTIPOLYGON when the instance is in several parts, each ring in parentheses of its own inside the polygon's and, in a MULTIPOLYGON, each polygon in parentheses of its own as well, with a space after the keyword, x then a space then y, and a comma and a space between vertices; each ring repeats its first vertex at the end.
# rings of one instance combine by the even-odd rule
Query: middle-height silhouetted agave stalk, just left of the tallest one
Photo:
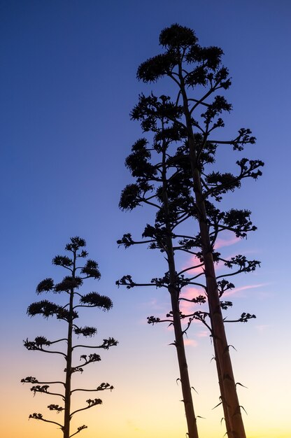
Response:
MULTIPOLYGON (((144 241, 134 241, 131 234, 125 234, 118 244, 125 248, 138 243, 149 243, 150 248, 158 249, 164 253, 168 271, 162 278, 152 278, 150 283, 135 283, 131 276, 123 276, 118 285, 127 285, 127 288, 134 286, 152 286, 167 288, 171 298, 171 320, 173 325, 178 366, 180 371, 180 383, 183 393, 183 403, 187 421, 187 433, 189 438, 198 438, 197 421, 194 414, 190 378, 187 369, 187 359, 183 340, 180 312, 180 290, 185 285, 183 276, 176 271, 175 249, 173 246, 174 230, 191 216, 190 211, 190 190, 189 178, 184 172, 178 169, 176 157, 170 157, 172 141, 168 139, 166 125, 169 119, 160 116, 161 127, 152 127, 155 132, 155 139, 152 147, 148 146, 146 139, 136 141, 132 147, 132 154, 127 157, 126 165, 129 167, 132 176, 136 177, 136 184, 127 185, 123 190, 120 199, 120 208, 124 210, 134 209, 140 204, 150 204, 156 209, 154 225, 146 225, 143 232, 144 241), (152 152, 157 156, 154 164, 151 160, 152 152), (173 169, 176 174, 173 174, 173 169), (187 181, 186 181, 187 180, 187 181)), ((148 323, 152 323, 152 317, 148 323)), ((157 322, 157 321, 155 321, 157 322)))

